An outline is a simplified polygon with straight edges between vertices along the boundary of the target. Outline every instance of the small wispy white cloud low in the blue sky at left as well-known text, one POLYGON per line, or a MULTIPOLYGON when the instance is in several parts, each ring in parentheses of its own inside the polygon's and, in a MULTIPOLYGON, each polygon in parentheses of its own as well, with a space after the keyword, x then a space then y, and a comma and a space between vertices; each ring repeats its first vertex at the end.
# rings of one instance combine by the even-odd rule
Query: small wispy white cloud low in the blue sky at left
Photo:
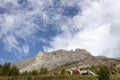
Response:
POLYGON ((22 44, 22 46, 20 46, 20 43, 13 35, 7 35, 6 37, 4 37, 2 42, 4 43, 4 48, 6 49, 6 51, 15 52, 15 55, 19 55, 20 58, 24 54, 25 55, 29 54, 29 45, 22 44), (19 53, 24 53, 24 54, 19 54, 19 53))

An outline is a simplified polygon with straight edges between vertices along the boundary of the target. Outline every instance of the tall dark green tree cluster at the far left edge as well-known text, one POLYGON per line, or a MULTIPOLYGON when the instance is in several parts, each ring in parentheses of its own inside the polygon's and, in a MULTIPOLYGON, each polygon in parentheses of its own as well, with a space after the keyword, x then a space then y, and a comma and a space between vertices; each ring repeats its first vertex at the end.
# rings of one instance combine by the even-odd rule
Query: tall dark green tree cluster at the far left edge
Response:
POLYGON ((19 69, 11 63, 5 63, 0 65, 0 76, 19 76, 19 69))

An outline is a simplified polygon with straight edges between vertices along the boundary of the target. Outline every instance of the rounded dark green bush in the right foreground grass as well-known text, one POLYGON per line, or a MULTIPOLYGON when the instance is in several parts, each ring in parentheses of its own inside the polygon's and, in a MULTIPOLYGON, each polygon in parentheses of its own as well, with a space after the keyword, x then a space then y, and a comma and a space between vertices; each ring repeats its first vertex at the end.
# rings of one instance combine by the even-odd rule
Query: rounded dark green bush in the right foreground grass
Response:
POLYGON ((99 80, 109 80, 110 78, 110 70, 108 67, 100 67, 100 70, 98 72, 98 79, 99 80))

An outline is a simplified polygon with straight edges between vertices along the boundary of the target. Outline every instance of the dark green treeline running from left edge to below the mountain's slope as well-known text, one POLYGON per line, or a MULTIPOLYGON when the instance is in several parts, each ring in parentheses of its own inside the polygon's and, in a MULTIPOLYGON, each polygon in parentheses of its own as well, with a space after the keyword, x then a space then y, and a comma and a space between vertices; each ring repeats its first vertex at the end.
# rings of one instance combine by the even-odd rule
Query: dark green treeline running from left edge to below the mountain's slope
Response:
POLYGON ((40 70, 25 71, 23 73, 19 72, 19 69, 12 65, 11 63, 5 63, 0 65, 0 76, 26 76, 26 75, 46 75, 49 71, 45 67, 42 67, 40 70))

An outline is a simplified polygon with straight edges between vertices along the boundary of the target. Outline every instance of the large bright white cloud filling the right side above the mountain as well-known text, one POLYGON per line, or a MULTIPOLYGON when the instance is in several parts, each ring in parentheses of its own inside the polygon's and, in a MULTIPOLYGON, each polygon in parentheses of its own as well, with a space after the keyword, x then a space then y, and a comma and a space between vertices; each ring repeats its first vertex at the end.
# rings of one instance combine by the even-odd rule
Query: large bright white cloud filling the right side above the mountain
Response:
POLYGON ((120 56, 120 0, 85 0, 78 5, 82 5, 82 12, 61 26, 63 33, 45 50, 84 48, 93 55, 120 56))

